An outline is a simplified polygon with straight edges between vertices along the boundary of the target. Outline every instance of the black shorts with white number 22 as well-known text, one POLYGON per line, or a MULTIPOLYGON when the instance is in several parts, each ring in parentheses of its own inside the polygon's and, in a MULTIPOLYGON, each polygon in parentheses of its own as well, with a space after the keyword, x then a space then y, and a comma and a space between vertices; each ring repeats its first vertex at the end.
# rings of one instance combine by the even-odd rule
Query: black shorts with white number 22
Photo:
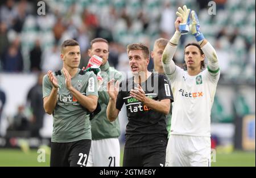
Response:
POLYGON ((50 166, 85 167, 91 143, 90 139, 68 143, 51 142, 50 166))

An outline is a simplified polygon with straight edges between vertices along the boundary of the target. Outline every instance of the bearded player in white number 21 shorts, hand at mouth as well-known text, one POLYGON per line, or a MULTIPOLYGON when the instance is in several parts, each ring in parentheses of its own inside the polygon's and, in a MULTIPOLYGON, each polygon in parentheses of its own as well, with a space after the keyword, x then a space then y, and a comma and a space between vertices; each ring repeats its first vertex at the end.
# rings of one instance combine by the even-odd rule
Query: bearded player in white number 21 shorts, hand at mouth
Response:
POLYGON ((94 167, 116 167, 119 166, 120 135, 119 120, 109 122, 106 117, 106 108, 109 103, 109 95, 106 91, 106 84, 109 79, 121 81, 122 75, 114 67, 109 66, 109 43, 102 38, 93 39, 90 42, 89 56, 91 57, 88 66, 98 66, 103 83, 98 90, 98 102, 101 105, 101 112, 90 121, 92 126, 92 146, 86 166, 94 167), (100 57, 100 61, 98 60, 100 57))

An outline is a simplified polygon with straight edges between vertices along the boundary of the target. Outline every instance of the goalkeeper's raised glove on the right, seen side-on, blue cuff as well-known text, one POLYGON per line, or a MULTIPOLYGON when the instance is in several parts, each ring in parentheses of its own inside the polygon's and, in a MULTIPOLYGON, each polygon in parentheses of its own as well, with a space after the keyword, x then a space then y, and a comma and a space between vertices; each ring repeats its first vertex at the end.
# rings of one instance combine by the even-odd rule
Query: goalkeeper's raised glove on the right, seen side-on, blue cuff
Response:
POLYGON ((204 35, 200 31, 200 24, 199 24, 199 19, 196 15, 195 11, 191 11, 191 16, 192 16, 192 23, 189 26, 191 33, 193 36, 196 37, 196 41, 200 42, 204 40, 204 35))

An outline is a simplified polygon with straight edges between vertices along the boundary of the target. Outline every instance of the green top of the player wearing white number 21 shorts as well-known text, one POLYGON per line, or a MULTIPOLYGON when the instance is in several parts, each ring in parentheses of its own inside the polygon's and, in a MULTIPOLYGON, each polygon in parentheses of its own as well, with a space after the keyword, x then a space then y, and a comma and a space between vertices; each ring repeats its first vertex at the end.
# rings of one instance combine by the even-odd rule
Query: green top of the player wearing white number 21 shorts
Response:
POLYGON ((120 135, 120 126, 118 118, 110 122, 106 116, 106 108, 109 103, 109 95, 106 90, 107 83, 111 79, 115 81, 121 81, 122 75, 119 71, 115 70, 114 67, 109 66, 109 62, 101 66, 101 77, 104 83, 98 90, 98 103, 101 105, 101 112, 98 113, 91 121, 92 126, 92 139, 106 139, 106 138, 118 138, 120 135))

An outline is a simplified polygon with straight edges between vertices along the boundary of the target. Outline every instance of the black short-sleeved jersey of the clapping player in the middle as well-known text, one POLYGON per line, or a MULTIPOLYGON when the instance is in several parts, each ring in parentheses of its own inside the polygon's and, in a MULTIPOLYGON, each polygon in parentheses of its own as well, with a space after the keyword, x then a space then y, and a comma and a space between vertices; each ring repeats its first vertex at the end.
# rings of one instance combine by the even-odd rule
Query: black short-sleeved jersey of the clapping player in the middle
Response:
MULTIPOLYGON (((120 83, 116 108, 121 110, 126 105, 128 124, 126 126, 126 147, 141 147, 163 144, 167 140, 166 115, 148 108, 130 96, 130 90, 137 87, 134 78, 120 83)), ((141 83, 145 95, 154 100, 170 99, 173 101, 168 78, 162 74, 152 73, 146 82, 141 83)))

